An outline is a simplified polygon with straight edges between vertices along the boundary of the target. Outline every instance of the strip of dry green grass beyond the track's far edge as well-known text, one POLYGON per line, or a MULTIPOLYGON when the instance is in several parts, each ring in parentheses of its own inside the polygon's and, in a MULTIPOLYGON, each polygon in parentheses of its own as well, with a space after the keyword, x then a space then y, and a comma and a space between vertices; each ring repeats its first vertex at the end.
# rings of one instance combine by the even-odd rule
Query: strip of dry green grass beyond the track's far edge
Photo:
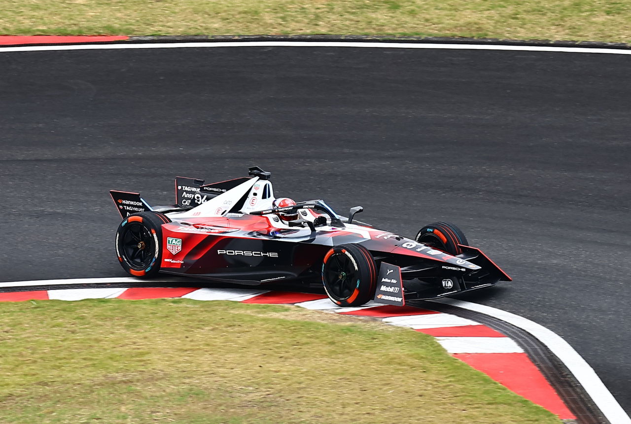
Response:
POLYGON ((418 35, 631 42, 629 0, 0 0, 10 35, 418 35))

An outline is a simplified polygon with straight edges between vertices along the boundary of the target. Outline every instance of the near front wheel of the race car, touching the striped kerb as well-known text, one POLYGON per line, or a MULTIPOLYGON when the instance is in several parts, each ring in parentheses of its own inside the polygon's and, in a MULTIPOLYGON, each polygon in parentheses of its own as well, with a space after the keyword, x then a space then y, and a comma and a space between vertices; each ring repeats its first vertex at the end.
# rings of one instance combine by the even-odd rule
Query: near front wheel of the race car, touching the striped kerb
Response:
POLYGON ((363 246, 334 246, 322 260, 322 283, 336 305, 363 305, 375 296, 377 264, 363 246))

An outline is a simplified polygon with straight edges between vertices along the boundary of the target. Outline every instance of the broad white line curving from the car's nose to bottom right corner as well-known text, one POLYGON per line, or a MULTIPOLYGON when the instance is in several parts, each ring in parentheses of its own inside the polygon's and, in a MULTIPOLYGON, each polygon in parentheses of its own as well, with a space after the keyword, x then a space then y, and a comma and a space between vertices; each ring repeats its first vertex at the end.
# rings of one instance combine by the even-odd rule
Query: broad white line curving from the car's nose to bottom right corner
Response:
POLYGON ((589 366, 568 342, 563 340, 563 338, 558 336, 555 332, 527 318, 501 309, 492 308, 491 306, 455 299, 439 299, 433 300, 433 302, 444 303, 445 305, 457 306, 459 308, 490 315, 491 317, 498 318, 515 327, 528 331, 545 344, 548 349, 567 366, 611 424, 631 423, 631 418, 625 413, 622 406, 620 406, 609 389, 603 384, 593 368, 589 366))

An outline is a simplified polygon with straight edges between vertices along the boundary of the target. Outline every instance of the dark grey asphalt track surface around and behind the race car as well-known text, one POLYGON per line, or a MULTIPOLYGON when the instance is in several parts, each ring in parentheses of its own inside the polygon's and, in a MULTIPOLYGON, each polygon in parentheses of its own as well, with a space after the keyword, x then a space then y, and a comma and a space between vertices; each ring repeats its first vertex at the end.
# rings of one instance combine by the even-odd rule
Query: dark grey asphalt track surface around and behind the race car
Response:
POLYGON ((631 57, 235 47, 0 52, 0 280, 126 276, 107 193, 273 172, 514 282, 461 296, 557 332, 631 411, 631 57))

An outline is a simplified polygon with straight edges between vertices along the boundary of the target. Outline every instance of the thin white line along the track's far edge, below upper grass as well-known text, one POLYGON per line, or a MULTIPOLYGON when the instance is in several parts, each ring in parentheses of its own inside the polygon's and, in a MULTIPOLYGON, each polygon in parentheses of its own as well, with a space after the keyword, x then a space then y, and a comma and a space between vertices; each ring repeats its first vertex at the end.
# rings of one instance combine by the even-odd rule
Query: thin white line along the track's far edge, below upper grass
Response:
POLYGON ((24 47, 0 47, 0 52, 35 52, 64 50, 118 50, 118 49, 181 49, 184 47, 363 47, 382 49, 444 49, 444 50, 504 50, 531 52, 565 52, 598 54, 631 54, 631 50, 595 47, 553 47, 548 45, 491 45, 491 44, 424 44, 344 41, 235 41, 235 42, 180 42, 180 43, 134 43, 120 44, 76 44, 76 45, 30 45, 24 47))

